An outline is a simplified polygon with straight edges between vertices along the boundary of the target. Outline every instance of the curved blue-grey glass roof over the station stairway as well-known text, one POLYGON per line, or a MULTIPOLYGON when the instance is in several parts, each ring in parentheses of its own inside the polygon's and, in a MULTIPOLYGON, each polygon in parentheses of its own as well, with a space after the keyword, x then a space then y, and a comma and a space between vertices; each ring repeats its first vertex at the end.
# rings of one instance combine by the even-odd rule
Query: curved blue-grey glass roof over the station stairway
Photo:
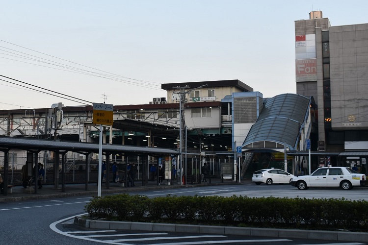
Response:
POLYGON ((266 100, 257 122, 251 127, 243 149, 296 149, 299 131, 308 118, 310 98, 283 94, 266 100))

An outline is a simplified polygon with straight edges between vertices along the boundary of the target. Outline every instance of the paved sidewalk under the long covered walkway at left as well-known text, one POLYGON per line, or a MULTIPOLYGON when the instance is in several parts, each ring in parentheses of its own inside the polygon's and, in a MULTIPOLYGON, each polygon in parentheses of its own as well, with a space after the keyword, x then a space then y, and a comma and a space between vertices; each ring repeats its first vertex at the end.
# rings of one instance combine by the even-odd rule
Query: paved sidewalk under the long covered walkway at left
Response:
MULTIPOLYGON (((145 183, 144 186, 142 181, 134 181, 135 187, 121 187, 118 183, 109 183, 109 188, 106 188, 106 183, 104 182, 101 187, 101 194, 108 193, 130 193, 131 191, 137 190, 158 190, 158 189, 168 189, 168 188, 188 188, 188 187, 198 187, 198 186, 209 186, 209 185, 229 185, 236 184, 235 181, 225 180, 224 183, 221 183, 220 178, 211 179, 211 183, 197 183, 193 185, 180 185, 176 181, 173 182, 173 185, 168 185, 167 180, 164 180, 161 185, 157 185, 156 181, 149 180, 148 183, 145 183)), ((34 187, 34 186, 33 186, 34 187)), ((47 199, 52 197, 67 197, 67 196, 97 196, 98 195, 98 186, 96 182, 88 183, 86 188, 85 183, 71 183, 66 184, 65 192, 62 192, 61 184, 59 184, 58 188, 55 189, 53 184, 43 184, 42 189, 38 189, 37 193, 29 193, 25 192, 27 189, 23 188, 23 186, 15 186, 12 187, 10 193, 10 189, 8 189, 8 193, 6 196, 3 194, 0 195, 0 203, 1 202, 11 202, 11 201, 22 201, 22 200, 32 200, 32 199, 47 199)))

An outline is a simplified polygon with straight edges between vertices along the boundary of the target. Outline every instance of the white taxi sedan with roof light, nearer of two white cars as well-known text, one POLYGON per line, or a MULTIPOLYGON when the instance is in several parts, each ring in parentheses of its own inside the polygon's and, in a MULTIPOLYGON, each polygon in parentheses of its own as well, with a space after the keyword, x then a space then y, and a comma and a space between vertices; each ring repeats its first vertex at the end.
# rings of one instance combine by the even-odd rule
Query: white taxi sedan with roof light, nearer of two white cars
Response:
POLYGON ((353 186, 363 186, 366 179, 365 174, 349 168, 324 167, 311 175, 292 178, 290 184, 299 190, 306 190, 309 187, 341 187, 343 190, 350 190, 353 186))

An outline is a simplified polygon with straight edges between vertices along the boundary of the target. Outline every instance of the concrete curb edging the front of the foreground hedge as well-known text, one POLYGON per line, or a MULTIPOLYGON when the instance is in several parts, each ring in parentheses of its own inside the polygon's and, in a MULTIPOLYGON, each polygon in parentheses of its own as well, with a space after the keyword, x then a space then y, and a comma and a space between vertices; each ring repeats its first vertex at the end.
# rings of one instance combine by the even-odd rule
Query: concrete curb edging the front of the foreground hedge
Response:
POLYGON ((349 231, 320 231, 320 230, 297 230, 297 229, 272 229, 253 227, 211 226, 171 223, 144 223, 126 221, 97 221, 88 220, 76 216, 74 224, 91 229, 111 230, 144 230, 144 231, 166 231, 206 233, 240 236, 263 236, 296 239, 318 239, 345 242, 367 242, 368 233, 349 231))

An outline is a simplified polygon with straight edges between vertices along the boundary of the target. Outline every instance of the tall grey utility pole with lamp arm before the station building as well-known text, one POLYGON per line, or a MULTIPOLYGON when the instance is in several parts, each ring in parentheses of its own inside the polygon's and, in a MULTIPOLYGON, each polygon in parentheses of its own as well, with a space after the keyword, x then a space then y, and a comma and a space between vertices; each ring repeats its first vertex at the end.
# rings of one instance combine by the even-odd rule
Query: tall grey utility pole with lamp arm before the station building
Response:
MULTIPOLYGON (((194 89, 190 89, 185 91, 185 89, 189 89, 188 85, 185 85, 184 87, 173 87, 173 89, 180 89, 180 92, 177 92, 179 94, 179 162, 180 162, 180 185, 183 185, 183 169, 184 169, 184 165, 183 165, 183 123, 184 123, 184 113, 183 113, 183 108, 184 108, 184 101, 185 101, 185 94, 190 93, 190 91, 193 91, 195 89, 199 89, 199 88, 203 88, 205 86, 208 86, 208 84, 199 86, 197 88, 194 89)), ((185 152, 186 152, 186 146, 185 146, 185 152)), ((186 171, 186 159, 185 159, 185 171, 186 171)))

